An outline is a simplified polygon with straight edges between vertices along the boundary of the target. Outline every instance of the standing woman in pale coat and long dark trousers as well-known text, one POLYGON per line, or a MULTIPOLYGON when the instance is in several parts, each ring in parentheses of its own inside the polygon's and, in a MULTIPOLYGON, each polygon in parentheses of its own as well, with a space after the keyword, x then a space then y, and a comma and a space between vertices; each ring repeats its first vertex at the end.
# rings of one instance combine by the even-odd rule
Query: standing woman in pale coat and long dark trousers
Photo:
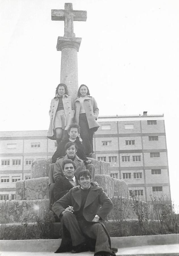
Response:
POLYGON ((86 156, 95 158, 93 153, 93 135, 98 130, 99 109, 96 100, 90 96, 88 87, 81 84, 75 99, 75 122, 80 126, 80 136, 85 146, 86 156))

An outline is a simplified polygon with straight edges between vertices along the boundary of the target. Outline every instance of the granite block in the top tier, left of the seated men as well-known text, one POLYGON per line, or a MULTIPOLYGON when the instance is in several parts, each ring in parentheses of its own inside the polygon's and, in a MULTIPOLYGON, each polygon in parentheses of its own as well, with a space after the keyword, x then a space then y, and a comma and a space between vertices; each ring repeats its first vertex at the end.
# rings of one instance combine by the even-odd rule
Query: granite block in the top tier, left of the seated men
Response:
POLYGON ((48 160, 33 161, 31 167, 31 178, 40 178, 48 176, 48 168, 51 162, 51 158, 48 160))

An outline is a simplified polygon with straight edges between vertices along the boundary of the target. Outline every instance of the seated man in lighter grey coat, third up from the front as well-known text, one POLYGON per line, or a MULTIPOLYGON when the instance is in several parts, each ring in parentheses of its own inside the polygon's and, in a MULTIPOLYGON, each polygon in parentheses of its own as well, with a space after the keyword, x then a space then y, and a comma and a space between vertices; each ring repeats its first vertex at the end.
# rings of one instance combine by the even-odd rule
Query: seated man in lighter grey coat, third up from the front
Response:
POLYGON ((74 142, 68 142, 65 145, 65 150, 66 150, 66 155, 64 157, 60 157, 56 160, 56 163, 52 163, 49 166, 48 169, 48 176, 49 176, 49 208, 52 208, 52 205, 54 203, 54 183, 58 182, 60 177, 63 176, 62 174, 62 162, 65 159, 71 159, 75 165, 76 165, 76 174, 78 174, 82 170, 88 170, 91 173, 92 176, 92 181, 94 181, 94 176, 95 176, 95 168, 92 164, 87 164, 85 166, 84 161, 81 160, 77 155, 77 145, 74 142))

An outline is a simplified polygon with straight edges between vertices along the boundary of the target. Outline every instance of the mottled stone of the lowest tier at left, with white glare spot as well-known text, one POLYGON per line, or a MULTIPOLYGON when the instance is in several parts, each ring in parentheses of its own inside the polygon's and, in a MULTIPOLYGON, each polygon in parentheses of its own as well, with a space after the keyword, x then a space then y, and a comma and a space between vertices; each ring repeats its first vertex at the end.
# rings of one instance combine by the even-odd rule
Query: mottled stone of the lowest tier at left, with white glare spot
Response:
POLYGON ((3 207, 4 201, 0 202, 0 219, 6 214, 7 223, 33 222, 37 216, 44 216, 49 209, 49 199, 42 200, 14 200, 3 207))

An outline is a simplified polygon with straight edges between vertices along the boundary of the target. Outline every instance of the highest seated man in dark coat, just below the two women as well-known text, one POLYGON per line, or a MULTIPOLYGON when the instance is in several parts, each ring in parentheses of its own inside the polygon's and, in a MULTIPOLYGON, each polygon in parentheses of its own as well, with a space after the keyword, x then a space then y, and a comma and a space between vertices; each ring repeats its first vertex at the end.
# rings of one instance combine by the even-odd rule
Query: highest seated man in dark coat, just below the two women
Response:
POLYGON ((68 142, 72 141, 77 144, 77 147, 78 147, 77 152, 76 152, 77 156, 85 162, 85 165, 90 164, 91 160, 89 160, 86 157, 85 147, 83 146, 83 143, 81 143, 81 141, 79 140, 79 137, 78 137, 79 133, 80 133, 80 126, 77 123, 72 123, 69 126, 69 128, 67 129, 67 132, 68 132, 69 138, 62 140, 58 144, 58 147, 52 156, 52 163, 55 163, 57 158, 66 155, 65 145, 68 142))

